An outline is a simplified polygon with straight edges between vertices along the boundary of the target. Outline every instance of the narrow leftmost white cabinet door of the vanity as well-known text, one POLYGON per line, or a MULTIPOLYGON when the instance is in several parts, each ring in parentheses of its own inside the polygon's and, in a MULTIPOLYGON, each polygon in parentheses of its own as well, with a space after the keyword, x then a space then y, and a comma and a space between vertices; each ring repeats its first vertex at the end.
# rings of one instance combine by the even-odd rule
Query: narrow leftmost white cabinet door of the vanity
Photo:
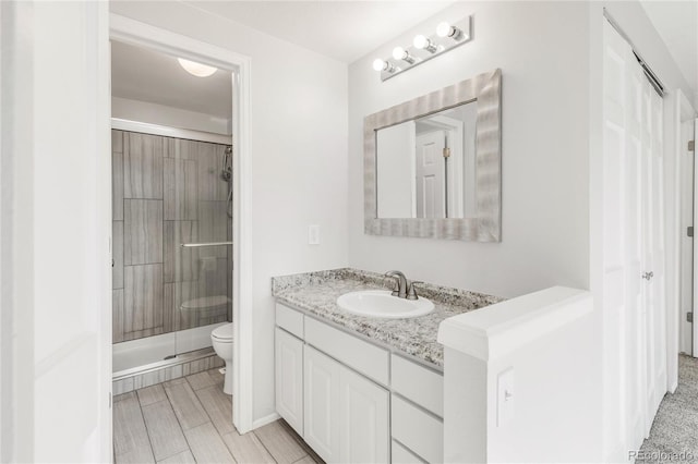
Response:
POLYGON ((303 341, 276 328, 276 411, 303 435, 303 341))

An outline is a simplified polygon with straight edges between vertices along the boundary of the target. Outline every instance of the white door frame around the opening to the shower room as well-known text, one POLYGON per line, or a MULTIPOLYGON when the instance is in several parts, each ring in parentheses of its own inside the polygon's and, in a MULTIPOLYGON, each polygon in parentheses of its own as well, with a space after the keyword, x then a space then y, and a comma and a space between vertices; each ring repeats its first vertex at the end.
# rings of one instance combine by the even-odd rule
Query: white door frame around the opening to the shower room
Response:
MULTIPOLYGON (((125 44, 186 58, 216 66, 233 74, 232 139, 233 156, 233 224, 232 284, 233 384, 232 423, 240 434, 252 429, 252 266, 251 266, 251 157, 250 157, 250 94, 251 59, 188 36, 176 34, 121 16, 110 14, 109 38, 125 44)), ((105 155, 106 156, 106 155, 105 155)), ((109 175, 111 173, 109 172, 109 175)), ((106 180, 107 181, 107 180, 106 180)), ((111 340, 104 341, 111 343, 111 340)))

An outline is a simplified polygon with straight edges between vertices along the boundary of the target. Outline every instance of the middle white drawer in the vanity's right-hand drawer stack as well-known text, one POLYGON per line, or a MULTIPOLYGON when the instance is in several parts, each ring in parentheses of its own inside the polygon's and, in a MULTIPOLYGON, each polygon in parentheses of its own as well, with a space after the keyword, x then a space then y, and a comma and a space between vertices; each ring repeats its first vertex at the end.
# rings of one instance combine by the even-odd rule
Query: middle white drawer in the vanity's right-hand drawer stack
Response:
POLYGON ((444 461, 444 423, 400 396, 393 395, 393 438, 430 463, 444 461))

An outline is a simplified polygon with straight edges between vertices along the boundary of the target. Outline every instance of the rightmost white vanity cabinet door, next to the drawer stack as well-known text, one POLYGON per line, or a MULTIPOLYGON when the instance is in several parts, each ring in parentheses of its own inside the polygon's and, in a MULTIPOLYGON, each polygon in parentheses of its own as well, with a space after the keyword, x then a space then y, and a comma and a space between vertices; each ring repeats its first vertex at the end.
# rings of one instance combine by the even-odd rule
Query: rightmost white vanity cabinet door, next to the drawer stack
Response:
POLYGON ((344 366, 339 384, 339 460, 342 463, 389 462, 388 391, 344 366))

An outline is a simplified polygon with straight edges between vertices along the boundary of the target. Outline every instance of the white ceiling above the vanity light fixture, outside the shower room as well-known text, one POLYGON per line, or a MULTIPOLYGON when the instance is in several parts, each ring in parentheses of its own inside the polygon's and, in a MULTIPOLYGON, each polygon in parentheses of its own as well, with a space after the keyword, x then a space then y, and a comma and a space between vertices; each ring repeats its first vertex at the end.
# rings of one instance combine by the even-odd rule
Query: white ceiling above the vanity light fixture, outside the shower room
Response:
POLYGON ((198 9, 351 63, 455 1, 205 1, 198 9))

